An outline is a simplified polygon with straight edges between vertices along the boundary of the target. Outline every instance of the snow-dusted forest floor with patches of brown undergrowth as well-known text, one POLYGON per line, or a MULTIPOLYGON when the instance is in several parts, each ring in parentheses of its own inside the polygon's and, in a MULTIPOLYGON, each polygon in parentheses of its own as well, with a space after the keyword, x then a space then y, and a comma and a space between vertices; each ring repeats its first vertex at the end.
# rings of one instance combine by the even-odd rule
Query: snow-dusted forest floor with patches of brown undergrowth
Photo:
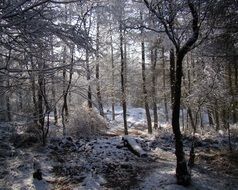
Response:
MULTIPOLYGON (((154 135, 148 135, 144 125, 130 125, 130 138, 146 152, 143 157, 123 144, 120 121, 111 123, 104 135, 52 137, 45 147, 30 136, 20 138, 25 134, 19 126, 0 123, 0 190, 238 189, 238 139, 232 139, 234 150, 229 152, 226 135, 211 130, 196 134, 192 184, 183 187, 176 184, 169 125, 161 125, 154 135), (35 162, 41 165, 43 180, 32 177, 35 162)), ((191 140, 190 135, 184 135, 186 155, 191 140)))

